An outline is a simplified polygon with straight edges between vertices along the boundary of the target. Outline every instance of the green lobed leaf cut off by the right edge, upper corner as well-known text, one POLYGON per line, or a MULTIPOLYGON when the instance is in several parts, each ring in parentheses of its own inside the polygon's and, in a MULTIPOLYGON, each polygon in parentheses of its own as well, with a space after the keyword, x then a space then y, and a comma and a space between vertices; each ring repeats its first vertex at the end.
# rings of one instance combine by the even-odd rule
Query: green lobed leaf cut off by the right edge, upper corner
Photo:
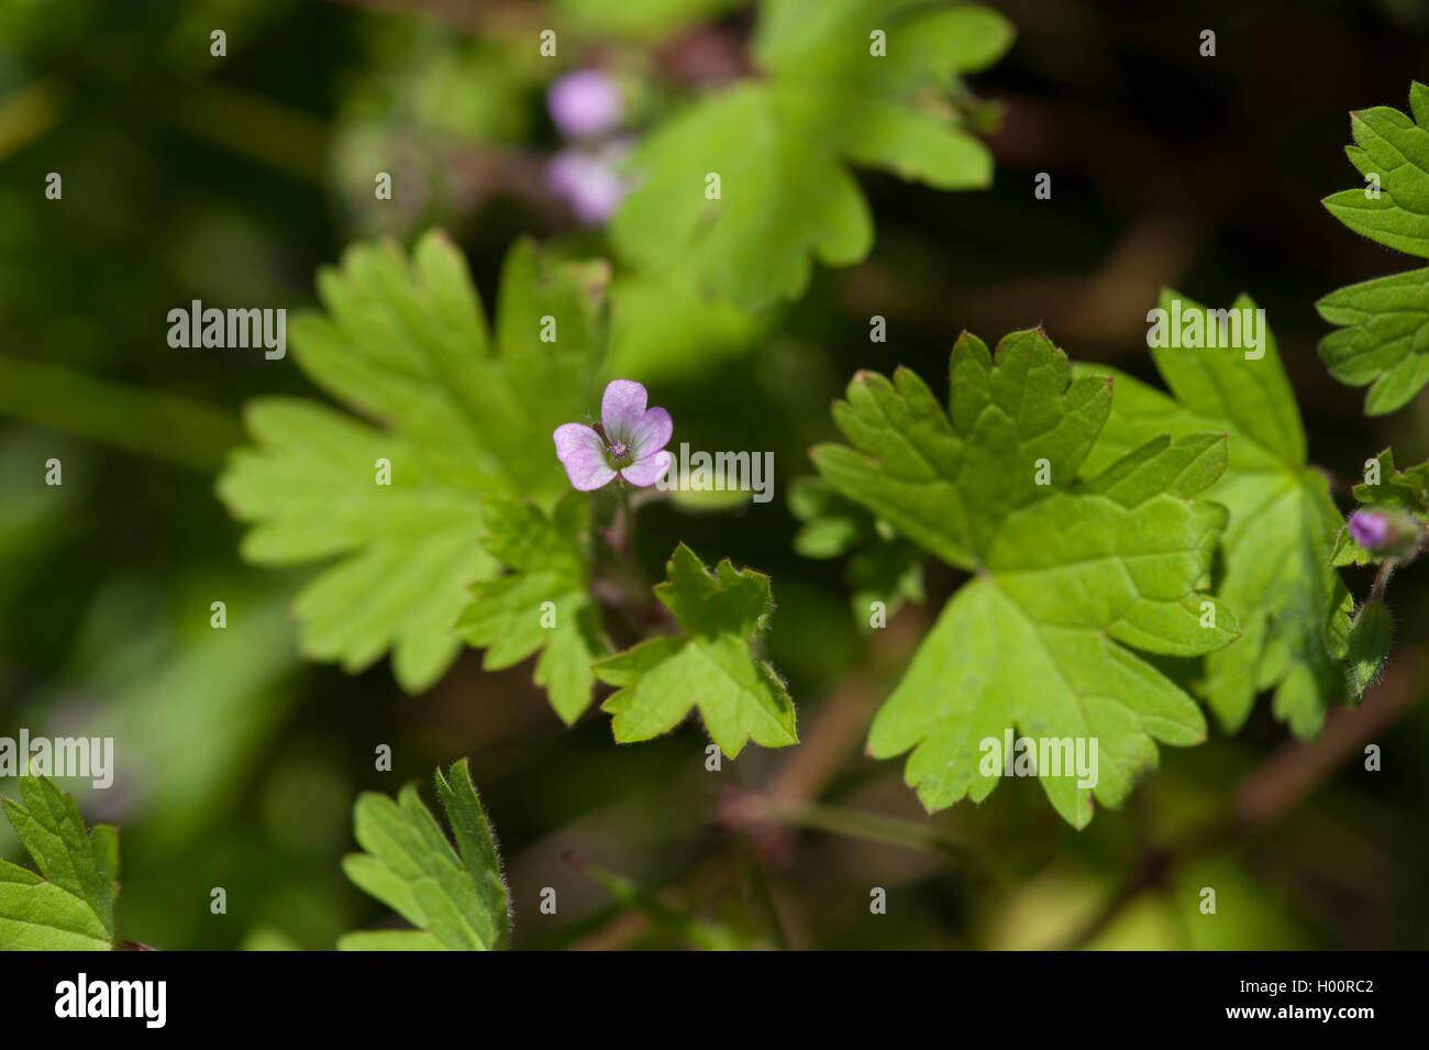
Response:
MULTIPOLYGON (((1413 83, 1409 104, 1413 119, 1389 106, 1350 114, 1358 144, 1345 154, 1366 184, 1326 197, 1325 207, 1356 233, 1429 257, 1429 87, 1413 83)), ((1395 411, 1429 381, 1429 270, 1350 284, 1315 306, 1343 326, 1320 343, 1330 374, 1373 384, 1368 414, 1395 411)))

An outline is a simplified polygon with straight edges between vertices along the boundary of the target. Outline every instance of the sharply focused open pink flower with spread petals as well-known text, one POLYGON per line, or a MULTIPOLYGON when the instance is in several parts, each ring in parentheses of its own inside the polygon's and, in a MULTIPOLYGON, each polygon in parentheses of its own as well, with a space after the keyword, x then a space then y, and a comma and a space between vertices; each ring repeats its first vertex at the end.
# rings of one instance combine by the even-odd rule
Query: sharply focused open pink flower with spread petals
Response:
POLYGON ((646 409, 643 386, 614 379, 600 399, 602 434, 583 423, 562 423, 552 434, 556 459, 566 467, 572 487, 592 491, 619 474, 637 486, 652 486, 670 469, 664 446, 674 423, 664 409, 646 409))

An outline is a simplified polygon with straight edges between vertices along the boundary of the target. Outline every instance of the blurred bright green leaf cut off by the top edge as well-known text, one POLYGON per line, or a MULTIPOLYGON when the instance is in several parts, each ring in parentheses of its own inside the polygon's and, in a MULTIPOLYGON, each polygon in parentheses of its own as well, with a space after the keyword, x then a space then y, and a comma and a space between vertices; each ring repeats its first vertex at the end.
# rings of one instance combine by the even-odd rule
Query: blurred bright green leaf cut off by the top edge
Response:
POLYGON ((679 269, 746 309, 799 296, 810 257, 867 254, 873 221, 849 163, 945 190, 989 184, 992 156, 947 96, 962 100, 959 74, 1012 43, 1007 21, 973 4, 767 0, 760 11, 762 76, 650 134, 632 159, 640 186, 612 223, 643 270, 679 269))

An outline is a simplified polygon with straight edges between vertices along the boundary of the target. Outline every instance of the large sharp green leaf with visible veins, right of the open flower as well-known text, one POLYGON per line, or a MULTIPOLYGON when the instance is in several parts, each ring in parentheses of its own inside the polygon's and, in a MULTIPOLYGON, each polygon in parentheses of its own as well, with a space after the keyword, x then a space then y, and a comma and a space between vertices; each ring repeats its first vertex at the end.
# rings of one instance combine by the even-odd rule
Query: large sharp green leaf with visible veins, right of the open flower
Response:
POLYGON ((835 406, 853 447, 812 453, 846 497, 975 573, 885 701, 869 753, 912 750, 906 780, 937 810, 992 793, 985 741, 1005 730, 1096 739, 1095 787, 1037 771, 1083 827, 1093 791, 1115 807, 1155 766, 1153 740, 1205 739, 1196 703, 1132 647, 1196 656, 1236 637, 1230 610, 1199 591, 1225 511, 1193 499, 1223 470, 1225 437, 1160 436, 1077 481, 1112 407, 1106 379, 1073 380, 1040 330, 1007 336, 996 357, 965 333, 950 373, 946 414, 906 369, 859 373, 835 406))

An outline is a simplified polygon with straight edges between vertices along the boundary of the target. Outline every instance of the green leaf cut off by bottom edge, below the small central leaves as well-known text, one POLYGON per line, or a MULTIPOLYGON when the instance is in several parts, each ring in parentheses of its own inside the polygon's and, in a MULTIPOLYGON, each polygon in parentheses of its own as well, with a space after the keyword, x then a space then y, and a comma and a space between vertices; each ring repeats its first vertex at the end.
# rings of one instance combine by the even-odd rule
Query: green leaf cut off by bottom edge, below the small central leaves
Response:
POLYGON ((416 930, 349 933, 343 951, 492 951, 510 943, 512 906, 496 836, 472 786, 466 759, 450 779, 436 773, 437 799, 456 851, 436 817, 407 784, 393 801, 364 791, 353 807, 357 844, 343 871, 416 930))

